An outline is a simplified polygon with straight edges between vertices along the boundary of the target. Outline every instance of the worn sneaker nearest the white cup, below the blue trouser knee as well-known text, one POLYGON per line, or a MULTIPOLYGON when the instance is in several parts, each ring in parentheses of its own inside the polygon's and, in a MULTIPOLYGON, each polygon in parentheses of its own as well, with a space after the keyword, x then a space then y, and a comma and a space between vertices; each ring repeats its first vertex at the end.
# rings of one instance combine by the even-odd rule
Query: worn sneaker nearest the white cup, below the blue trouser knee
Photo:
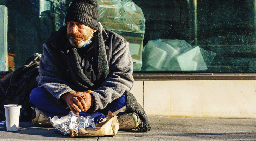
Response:
POLYGON ((48 116, 38 108, 36 108, 32 114, 32 123, 39 126, 51 125, 48 116))

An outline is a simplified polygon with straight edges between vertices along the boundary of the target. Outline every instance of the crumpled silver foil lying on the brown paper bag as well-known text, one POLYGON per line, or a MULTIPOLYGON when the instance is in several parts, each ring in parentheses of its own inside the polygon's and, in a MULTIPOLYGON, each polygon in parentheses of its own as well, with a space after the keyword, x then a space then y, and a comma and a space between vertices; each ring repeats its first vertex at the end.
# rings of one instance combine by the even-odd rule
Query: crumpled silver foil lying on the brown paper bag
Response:
POLYGON ((69 112, 67 116, 61 117, 54 116, 49 120, 52 123, 52 126, 60 133, 64 135, 69 135, 69 129, 80 129, 85 127, 94 127, 94 118, 91 116, 83 117, 74 114, 72 111, 69 112))

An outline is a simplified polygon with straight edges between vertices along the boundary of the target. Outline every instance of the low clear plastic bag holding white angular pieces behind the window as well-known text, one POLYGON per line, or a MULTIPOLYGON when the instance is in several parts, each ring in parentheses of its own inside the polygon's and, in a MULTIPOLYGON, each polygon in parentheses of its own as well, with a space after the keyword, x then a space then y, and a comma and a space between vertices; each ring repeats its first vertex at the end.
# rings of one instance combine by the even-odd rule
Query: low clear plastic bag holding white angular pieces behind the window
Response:
POLYGON ((216 53, 184 40, 151 40, 143 47, 143 65, 150 70, 201 71, 207 70, 216 53))

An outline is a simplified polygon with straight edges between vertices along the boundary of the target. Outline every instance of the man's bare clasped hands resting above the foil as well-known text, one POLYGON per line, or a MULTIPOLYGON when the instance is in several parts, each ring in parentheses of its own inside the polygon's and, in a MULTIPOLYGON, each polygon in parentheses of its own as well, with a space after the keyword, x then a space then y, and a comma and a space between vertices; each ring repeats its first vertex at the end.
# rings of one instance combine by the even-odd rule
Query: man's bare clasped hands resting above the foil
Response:
POLYGON ((62 95, 70 110, 78 115, 79 112, 86 112, 94 105, 94 99, 91 96, 91 90, 85 92, 69 92, 62 95))

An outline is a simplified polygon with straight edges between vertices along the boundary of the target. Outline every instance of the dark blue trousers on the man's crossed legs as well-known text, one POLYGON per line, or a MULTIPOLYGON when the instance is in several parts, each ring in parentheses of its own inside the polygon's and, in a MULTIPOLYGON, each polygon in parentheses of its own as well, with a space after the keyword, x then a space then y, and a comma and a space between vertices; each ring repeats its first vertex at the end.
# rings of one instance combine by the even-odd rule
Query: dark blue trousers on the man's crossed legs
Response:
MULTIPOLYGON (((91 114, 79 112, 79 115, 92 116, 95 124, 97 124, 100 118, 104 118, 105 115, 108 115, 108 111, 115 112, 125 106, 127 104, 126 97, 126 93, 124 93, 121 97, 109 103, 104 109, 97 110, 91 114)), ((70 112, 69 108, 65 108, 57 104, 56 101, 43 90, 43 88, 34 88, 34 90, 32 90, 30 93, 29 102, 31 107, 38 107, 41 111, 43 111, 44 114, 50 116, 51 118, 54 116, 61 118, 70 112)))

